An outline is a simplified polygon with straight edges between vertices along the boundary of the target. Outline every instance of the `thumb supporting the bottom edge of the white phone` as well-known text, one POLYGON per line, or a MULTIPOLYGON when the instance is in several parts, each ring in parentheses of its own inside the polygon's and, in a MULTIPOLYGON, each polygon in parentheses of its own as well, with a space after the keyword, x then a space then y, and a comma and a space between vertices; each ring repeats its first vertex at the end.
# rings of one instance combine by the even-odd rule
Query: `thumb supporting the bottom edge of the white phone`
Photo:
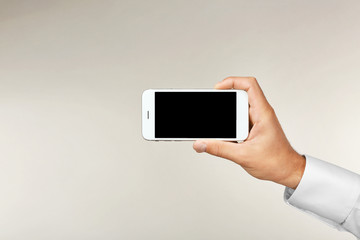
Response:
POLYGON ((225 142, 218 140, 197 140, 193 144, 193 148, 196 152, 207 152, 211 155, 226 158, 234 161, 236 157, 239 157, 241 144, 233 142, 225 142))

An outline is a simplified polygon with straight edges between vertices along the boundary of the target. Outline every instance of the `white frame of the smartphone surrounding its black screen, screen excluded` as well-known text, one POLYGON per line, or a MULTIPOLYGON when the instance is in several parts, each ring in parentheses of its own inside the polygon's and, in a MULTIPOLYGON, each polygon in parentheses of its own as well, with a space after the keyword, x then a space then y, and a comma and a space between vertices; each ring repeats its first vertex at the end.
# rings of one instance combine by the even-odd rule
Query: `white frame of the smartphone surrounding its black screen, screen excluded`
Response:
POLYGON ((249 134, 248 94, 244 90, 217 89, 148 89, 142 94, 142 136, 149 141, 193 141, 204 138, 155 138, 155 92, 236 92, 236 138, 207 138, 243 141, 249 134))

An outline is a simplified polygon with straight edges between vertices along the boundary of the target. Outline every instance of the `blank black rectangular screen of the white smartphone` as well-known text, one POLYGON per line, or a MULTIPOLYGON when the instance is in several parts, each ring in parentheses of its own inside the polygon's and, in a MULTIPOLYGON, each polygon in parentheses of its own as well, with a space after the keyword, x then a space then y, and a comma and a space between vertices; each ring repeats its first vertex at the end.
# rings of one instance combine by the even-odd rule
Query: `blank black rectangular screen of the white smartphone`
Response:
POLYGON ((236 138, 236 92, 155 92, 155 138, 236 138))

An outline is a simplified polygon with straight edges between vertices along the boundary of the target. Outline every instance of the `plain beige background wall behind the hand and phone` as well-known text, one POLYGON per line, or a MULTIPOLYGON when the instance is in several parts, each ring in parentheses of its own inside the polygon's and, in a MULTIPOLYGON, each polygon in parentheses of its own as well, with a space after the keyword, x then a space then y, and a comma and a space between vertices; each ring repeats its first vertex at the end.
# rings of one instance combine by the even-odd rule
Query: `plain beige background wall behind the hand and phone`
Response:
POLYGON ((144 141, 140 100, 253 75, 299 152, 360 172, 359 12, 0 0, 0 239, 354 239, 191 142, 144 141))

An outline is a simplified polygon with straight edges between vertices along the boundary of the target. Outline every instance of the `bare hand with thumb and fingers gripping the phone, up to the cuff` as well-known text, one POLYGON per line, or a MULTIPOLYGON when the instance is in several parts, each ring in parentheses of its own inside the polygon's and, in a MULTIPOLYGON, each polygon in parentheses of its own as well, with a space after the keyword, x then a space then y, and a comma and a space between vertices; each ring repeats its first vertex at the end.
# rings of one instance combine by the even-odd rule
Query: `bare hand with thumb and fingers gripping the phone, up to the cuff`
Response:
POLYGON ((252 126, 249 136, 242 143, 197 140, 194 150, 231 160, 255 178, 296 189, 304 173, 305 158, 291 147, 257 80, 228 77, 215 88, 247 91, 252 126))

